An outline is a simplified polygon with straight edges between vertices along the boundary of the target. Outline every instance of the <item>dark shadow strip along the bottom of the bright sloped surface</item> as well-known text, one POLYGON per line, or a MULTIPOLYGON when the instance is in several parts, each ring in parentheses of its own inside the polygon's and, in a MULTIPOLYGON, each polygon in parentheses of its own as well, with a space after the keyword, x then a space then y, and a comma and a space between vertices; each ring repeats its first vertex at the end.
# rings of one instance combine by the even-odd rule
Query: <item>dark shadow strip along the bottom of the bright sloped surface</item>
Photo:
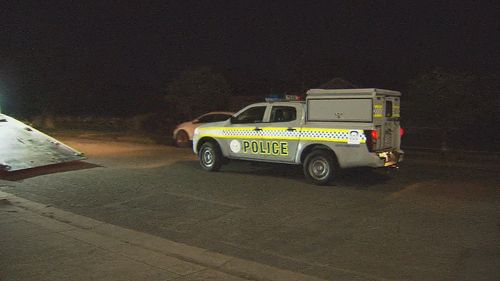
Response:
POLYGON ((53 165, 35 167, 35 168, 31 168, 31 169, 12 171, 12 172, 0 171, 0 180, 20 181, 20 180, 38 177, 38 176, 42 176, 42 175, 92 169, 92 168, 96 168, 96 167, 102 167, 102 166, 96 165, 93 163, 84 162, 84 161, 58 163, 58 164, 53 164, 53 165))

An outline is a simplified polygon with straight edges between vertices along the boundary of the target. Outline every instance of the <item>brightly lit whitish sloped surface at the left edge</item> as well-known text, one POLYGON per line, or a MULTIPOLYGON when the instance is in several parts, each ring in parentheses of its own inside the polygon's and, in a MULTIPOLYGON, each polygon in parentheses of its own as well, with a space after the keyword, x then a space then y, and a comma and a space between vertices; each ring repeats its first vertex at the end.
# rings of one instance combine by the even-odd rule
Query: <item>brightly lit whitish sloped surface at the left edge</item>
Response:
POLYGON ((16 171, 85 159, 83 153, 0 114, 0 171, 16 171))

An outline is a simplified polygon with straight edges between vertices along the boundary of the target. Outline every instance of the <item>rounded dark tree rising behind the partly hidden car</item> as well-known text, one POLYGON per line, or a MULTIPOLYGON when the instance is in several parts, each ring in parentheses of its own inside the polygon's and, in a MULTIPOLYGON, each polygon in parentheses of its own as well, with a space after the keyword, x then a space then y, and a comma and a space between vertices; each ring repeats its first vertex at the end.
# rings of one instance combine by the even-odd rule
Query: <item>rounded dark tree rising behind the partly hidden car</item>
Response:
POLYGON ((170 107, 184 118, 224 110, 231 90, 226 78, 209 67, 182 72, 167 85, 165 99, 170 107))

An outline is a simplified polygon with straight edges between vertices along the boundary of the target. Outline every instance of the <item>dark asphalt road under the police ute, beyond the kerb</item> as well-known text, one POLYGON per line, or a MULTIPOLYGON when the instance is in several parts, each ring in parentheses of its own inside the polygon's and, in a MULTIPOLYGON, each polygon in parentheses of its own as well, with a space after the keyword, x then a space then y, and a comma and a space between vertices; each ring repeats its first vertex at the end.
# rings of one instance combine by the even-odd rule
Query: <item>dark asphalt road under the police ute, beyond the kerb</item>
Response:
POLYGON ((407 154, 317 187, 295 166, 209 173, 189 149, 65 141, 88 159, 1 174, 0 190, 328 280, 500 279, 498 166, 407 154))

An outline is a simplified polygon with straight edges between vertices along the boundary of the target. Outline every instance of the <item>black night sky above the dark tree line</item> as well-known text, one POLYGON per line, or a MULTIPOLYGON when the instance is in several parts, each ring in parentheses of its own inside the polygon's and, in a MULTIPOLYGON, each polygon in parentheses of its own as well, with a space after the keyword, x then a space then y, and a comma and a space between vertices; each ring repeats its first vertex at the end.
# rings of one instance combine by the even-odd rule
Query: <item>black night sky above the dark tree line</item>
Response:
POLYGON ((243 95, 499 72, 496 1, 424 2, 2 1, 0 103, 158 94, 198 66, 243 95))

